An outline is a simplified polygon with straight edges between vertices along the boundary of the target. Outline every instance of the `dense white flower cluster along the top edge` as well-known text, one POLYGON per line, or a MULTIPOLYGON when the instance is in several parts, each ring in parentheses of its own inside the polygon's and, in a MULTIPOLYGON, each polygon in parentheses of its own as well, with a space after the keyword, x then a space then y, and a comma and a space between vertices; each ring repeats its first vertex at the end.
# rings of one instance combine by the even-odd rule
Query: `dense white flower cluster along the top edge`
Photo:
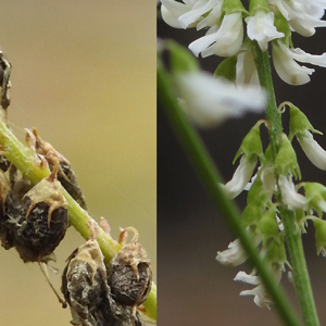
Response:
MULTIPOLYGON (((248 66, 240 68, 243 61, 240 55, 248 50, 243 43, 243 17, 248 38, 258 41, 262 51, 266 51, 268 42, 272 42, 275 70, 284 82, 290 85, 310 82, 310 75, 314 70, 298 62, 326 66, 326 53, 312 55, 290 46, 291 30, 308 37, 315 33, 316 27, 326 26, 326 21, 322 20, 326 9, 325 0, 251 0, 253 5, 250 4, 250 12, 240 1, 235 0, 183 0, 183 2, 161 0, 161 2, 162 17, 168 25, 175 28, 206 29, 204 36, 189 45, 193 54, 197 57, 201 54, 203 58, 213 54, 238 55, 237 75, 256 74, 253 64, 251 72, 248 72, 248 66)), ((242 82, 255 84, 256 77, 242 82)))

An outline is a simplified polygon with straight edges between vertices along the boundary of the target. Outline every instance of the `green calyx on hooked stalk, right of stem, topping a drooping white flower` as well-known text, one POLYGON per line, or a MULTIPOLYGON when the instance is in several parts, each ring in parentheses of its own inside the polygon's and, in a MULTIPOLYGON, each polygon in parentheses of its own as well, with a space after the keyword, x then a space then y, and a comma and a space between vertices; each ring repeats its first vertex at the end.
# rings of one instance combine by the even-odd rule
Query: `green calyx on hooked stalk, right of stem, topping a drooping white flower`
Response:
POLYGON ((303 114, 299 108, 293 105, 292 103, 289 104, 290 108, 290 126, 289 126, 289 140, 292 141, 293 137, 297 135, 305 136, 306 130, 310 130, 315 134, 323 135, 323 133, 316 130, 310 121, 308 120, 306 115, 303 114))

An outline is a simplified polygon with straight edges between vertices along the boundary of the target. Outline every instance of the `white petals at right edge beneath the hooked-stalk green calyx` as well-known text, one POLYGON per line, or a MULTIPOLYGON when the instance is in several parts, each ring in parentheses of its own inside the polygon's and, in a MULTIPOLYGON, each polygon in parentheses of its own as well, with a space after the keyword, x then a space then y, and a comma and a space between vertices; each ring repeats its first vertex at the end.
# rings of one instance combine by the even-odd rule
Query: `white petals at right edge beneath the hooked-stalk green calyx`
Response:
POLYGON ((313 135, 306 131, 305 135, 298 134, 297 138, 308 159, 318 168, 326 171, 326 151, 314 140, 313 135))

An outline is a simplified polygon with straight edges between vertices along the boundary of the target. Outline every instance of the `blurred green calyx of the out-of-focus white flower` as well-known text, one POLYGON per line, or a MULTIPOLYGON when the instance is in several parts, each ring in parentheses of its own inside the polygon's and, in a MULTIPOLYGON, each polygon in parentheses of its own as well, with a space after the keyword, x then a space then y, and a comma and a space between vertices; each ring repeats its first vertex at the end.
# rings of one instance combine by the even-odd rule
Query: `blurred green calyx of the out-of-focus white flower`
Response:
POLYGON ((168 40, 166 48, 170 50, 172 74, 200 71, 198 60, 187 48, 173 40, 168 40))

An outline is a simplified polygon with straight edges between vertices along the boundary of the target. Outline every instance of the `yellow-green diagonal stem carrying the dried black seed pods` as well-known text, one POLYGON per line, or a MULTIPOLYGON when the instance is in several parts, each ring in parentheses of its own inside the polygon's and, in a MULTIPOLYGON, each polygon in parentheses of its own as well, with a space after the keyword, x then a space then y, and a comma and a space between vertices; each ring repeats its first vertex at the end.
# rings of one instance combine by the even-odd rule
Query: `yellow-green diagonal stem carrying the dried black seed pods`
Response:
MULTIPOLYGON (((36 164, 35 153, 26 148, 1 122, 0 117, 0 146, 3 155, 12 162, 33 184, 39 183, 42 178, 50 175, 47 166, 36 164)), ((62 188, 62 193, 67 200, 68 218, 71 225, 85 238, 89 239, 89 223, 96 223, 86 211, 62 188)), ((122 244, 105 234, 101 227, 97 229, 97 240, 106 262, 122 249, 122 244)), ((156 321, 156 286, 153 283, 151 292, 146 302, 143 302, 146 315, 156 321)))

